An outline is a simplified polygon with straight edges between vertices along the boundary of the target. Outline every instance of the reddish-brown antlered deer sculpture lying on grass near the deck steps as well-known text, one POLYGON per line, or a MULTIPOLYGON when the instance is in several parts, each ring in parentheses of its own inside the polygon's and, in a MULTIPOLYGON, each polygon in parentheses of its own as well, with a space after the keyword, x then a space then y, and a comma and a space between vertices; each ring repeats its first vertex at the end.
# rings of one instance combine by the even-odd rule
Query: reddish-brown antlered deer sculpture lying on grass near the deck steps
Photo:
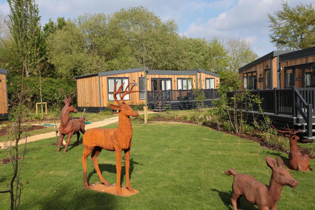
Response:
POLYGON ((296 133, 300 133, 301 130, 297 130, 293 132, 293 129, 290 128, 283 128, 284 131, 278 130, 275 127, 276 131, 279 133, 289 133, 284 134, 284 136, 290 138, 290 153, 289 153, 289 164, 290 169, 298 170, 298 171, 311 171, 308 165, 310 164, 310 158, 305 154, 302 155, 301 152, 297 148, 296 141, 300 140, 300 138, 296 135, 296 133))

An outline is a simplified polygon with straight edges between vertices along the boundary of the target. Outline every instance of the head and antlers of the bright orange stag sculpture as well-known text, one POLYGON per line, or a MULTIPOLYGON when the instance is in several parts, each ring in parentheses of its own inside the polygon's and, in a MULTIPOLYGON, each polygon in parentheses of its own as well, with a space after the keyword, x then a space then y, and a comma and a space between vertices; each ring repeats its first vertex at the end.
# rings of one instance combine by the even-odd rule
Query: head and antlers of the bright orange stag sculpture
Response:
POLYGON ((119 86, 118 90, 116 91, 117 82, 115 83, 115 86, 114 86, 113 97, 119 106, 111 104, 110 105, 111 108, 113 110, 118 110, 120 115, 134 116, 134 117, 139 116, 139 113, 137 111, 133 110, 129 105, 127 105, 125 103, 125 101, 123 100, 123 97, 125 97, 127 94, 134 93, 134 92, 140 92, 140 91, 139 90, 132 90, 135 87, 135 84, 133 86, 131 86, 130 90, 128 91, 128 88, 129 88, 131 83, 129 83, 127 85, 127 87, 124 91, 122 90, 124 83, 121 84, 119 86), (121 102, 117 99, 117 96, 116 96, 117 94, 119 94, 121 102))

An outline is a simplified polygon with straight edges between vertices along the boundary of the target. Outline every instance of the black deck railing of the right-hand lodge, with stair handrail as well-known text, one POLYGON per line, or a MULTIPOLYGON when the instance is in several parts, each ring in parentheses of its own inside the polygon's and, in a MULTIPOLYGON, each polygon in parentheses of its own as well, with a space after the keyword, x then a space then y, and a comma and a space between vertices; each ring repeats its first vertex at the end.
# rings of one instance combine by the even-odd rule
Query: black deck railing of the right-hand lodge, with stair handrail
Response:
MULTIPOLYGON (((237 92, 227 92, 228 106, 233 106, 232 97, 237 92)), ((307 123, 307 136, 312 137, 312 116, 315 115, 315 88, 296 88, 272 90, 251 90, 251 95, 258 95, 261 99, 261 111, 275 115, 284 114, 293 117, 302 116, 307 123)), ((242 103, 237 104, 237 109, 259 111, 256 104, 252 104, 249 96, 243 97, 242 103)))

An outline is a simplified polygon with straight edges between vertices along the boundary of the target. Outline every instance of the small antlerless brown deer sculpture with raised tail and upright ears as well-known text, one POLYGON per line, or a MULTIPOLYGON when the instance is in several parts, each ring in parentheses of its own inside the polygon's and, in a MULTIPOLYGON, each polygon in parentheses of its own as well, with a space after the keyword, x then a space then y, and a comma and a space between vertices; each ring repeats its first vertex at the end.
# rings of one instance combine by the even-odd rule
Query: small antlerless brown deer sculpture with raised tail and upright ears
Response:
POLYGON ((298 182, 290 175, 289 171, 284 168, 284 164, 279 157, 276 161, 268 156, 265 156, 267 165, 271 168, 272 174, 269 186, 263 184, 248 174, 237 173, 234 168, 231 168, 226 175, 233 175, 232 184, 232 205, 233 209, 238 209, 239 200, 244 196, 247 201, 255 204, 259 209, 277 209, 277 202, 280 199, 282 187, 284 185, 295 188, 298 182))

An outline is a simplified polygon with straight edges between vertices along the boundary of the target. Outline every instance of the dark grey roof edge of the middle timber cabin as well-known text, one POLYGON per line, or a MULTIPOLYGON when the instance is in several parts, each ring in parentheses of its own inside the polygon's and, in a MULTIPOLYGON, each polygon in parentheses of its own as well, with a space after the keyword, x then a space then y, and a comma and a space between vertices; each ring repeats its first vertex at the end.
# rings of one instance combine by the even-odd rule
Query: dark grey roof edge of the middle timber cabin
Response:
MULTIPOLYGON (((192 70, 182 70, 182 71, 173 71, 173 70, 148 70, 148 67, 145 67, 145 70, 147 71, 147 74, 166 74, 166 75, 187 75, 187 74, 196 74, 197 72, 202 72, 208 75, 212 75, 215 77, 220 77, 220 74, 216 74, 210 71, 205 71, 203 69, 192 69, 192 70)), ((83 76, 75 77, 77 78, 83 78, 83 77, 92 77, 98 75, 99 77, 102 76, 111 76, 111 75, 117 75, 117 74, 126 74, 126 73, 133 73, 133 72, 139 72, 143 71, 143 68, 134 68, 134 69, 123 69, 123 70, 116 70, 116 71, 105 71, 105 72, 99 72, 95 74, 88 74, 83 76)))

